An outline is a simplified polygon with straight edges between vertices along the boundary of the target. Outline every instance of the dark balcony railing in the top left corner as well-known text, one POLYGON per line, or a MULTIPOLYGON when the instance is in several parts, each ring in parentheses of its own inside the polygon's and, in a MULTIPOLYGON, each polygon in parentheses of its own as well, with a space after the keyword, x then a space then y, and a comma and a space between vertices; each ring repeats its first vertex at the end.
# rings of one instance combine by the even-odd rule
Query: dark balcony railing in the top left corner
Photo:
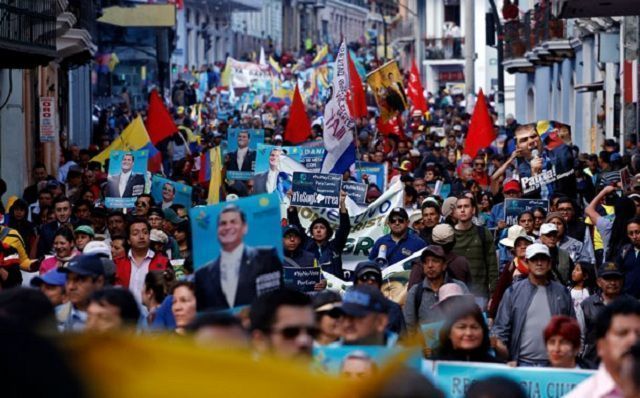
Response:
POLYGON ((55 55, 56 0, 0 0, 0 47, 55 55))

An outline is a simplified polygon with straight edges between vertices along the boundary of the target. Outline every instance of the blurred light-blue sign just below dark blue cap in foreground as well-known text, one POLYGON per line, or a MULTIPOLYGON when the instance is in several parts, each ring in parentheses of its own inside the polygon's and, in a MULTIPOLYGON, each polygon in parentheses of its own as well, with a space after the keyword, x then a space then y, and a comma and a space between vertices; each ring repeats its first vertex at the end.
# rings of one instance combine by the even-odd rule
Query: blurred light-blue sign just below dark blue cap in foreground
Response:
POLYGON ((406 355, 406 366, 420 370, 422 368, 421 353, 418 349, 402 349, 384 346, 319 346, 313 349, 312 369, 320 373, 339 375, 347 373, 351 359, 370 361, 377 368, 383 367, 393 358, 406 355))

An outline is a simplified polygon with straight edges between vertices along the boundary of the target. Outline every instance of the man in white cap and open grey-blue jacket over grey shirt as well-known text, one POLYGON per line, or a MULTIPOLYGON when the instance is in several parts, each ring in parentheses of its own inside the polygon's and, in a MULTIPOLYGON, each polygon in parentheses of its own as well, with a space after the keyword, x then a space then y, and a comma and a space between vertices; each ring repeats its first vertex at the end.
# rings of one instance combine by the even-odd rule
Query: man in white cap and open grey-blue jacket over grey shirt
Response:
POLYGON ((518 366, 546 366, 549 359, 542 330, 554 315, 575 317, 573 302, 564 286, 550 280, 547 246, 529 245, 526 259, 529 275, 505 292, 491 329, 492 346, 518 366))

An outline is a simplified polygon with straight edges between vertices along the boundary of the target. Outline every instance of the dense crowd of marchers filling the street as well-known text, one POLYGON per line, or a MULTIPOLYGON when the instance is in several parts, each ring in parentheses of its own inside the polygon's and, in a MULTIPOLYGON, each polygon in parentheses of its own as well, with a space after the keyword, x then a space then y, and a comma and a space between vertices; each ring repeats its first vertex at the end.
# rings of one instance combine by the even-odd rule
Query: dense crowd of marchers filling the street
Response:
MULTIPOLYGON (((198 179, 197 157, 220 146, 228 129, 264 129, 266 143, 284 141, 287 106, 226 113, 212 88, 197 104, 198 118, 189 106, 171 107, 179 128, 158 148, 165 176, 193 187, 193 206, 206 204, 209 186, 198 179)), ((105 206, 107 169, 91 159, 134 116, 126 106, 105 114, 97 145, 71 145, 55 175, 34 165, 24 192, 9 193, 0 227, 0 318, 48 332, 166 331, 298 359, 318 347, 418 342, 434 360, 597 369, 572 397, 638 396, 640 145, 606 140, 599 153, 584 153, 567 126, 549 134, 540 123, 508 116, 505 126, 496 124, 495 141, 469 156, 464 97, 442 89, 426 99, 428 113, 405 112, 398 133, 380 131, 373 110, 357 120, 358 159, 388 167, 387 184, 368 185, 367 203, 394 183, 402 184, 404 199, 388 212, 388 233, 349 273, 342 253, 354 214, 344 192, 337 222, 318 217, 305 230, 300 209, 287 209, 279 258, 244 245, 245 209, 234 204, 265 188, 257 189, 257 178, 224 175, 221 200, 228 204, 210 239, 220 257, 194 269, 189 208, 170 200, 171 186, 162 202, 141 193, 131 209, 105 206), (549 174, 554 178, 542 181, 549 174), (450 187, 446 196, 435 188, 442 185, 450 187), (546 205, 510 220, 505 201, 512 199, 546 205), (405 292, 391 300, 383 271, 412 255, 405 292), (283 264, 321 267, 349 276, 352 286, 338 292, 323 278, 313 293, 285 288, 283 264), (438 344, 428 347, 421 328, 436 322, 438 344)), ((307 108, 314 120, 308 140, 322 140, 322 102, 310 100, 307 108)), ((226 168, 251 171, 255 159, 238 140, 226 168)), ((349 172, 343 178, 354 179, 349 172)), ((266 176, 263 184, 274 182, 266 176)), ((366 378, 376 369, 356 352, 342 373, 366 378)), ((475 396, 498 396, 502 387, 478 383, 469 396, 478 389, 495 391, 475 396)))

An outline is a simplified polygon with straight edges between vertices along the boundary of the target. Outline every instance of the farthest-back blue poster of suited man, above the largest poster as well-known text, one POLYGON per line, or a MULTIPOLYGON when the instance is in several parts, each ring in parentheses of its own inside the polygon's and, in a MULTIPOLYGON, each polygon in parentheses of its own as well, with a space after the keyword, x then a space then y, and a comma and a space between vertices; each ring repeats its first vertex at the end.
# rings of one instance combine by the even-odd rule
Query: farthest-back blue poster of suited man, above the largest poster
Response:
POLYGON ((229 129, 225 150, 225 169, 229 180, 248 180, 253 176, 256 149, 264 142, 262 129, 229 129))

